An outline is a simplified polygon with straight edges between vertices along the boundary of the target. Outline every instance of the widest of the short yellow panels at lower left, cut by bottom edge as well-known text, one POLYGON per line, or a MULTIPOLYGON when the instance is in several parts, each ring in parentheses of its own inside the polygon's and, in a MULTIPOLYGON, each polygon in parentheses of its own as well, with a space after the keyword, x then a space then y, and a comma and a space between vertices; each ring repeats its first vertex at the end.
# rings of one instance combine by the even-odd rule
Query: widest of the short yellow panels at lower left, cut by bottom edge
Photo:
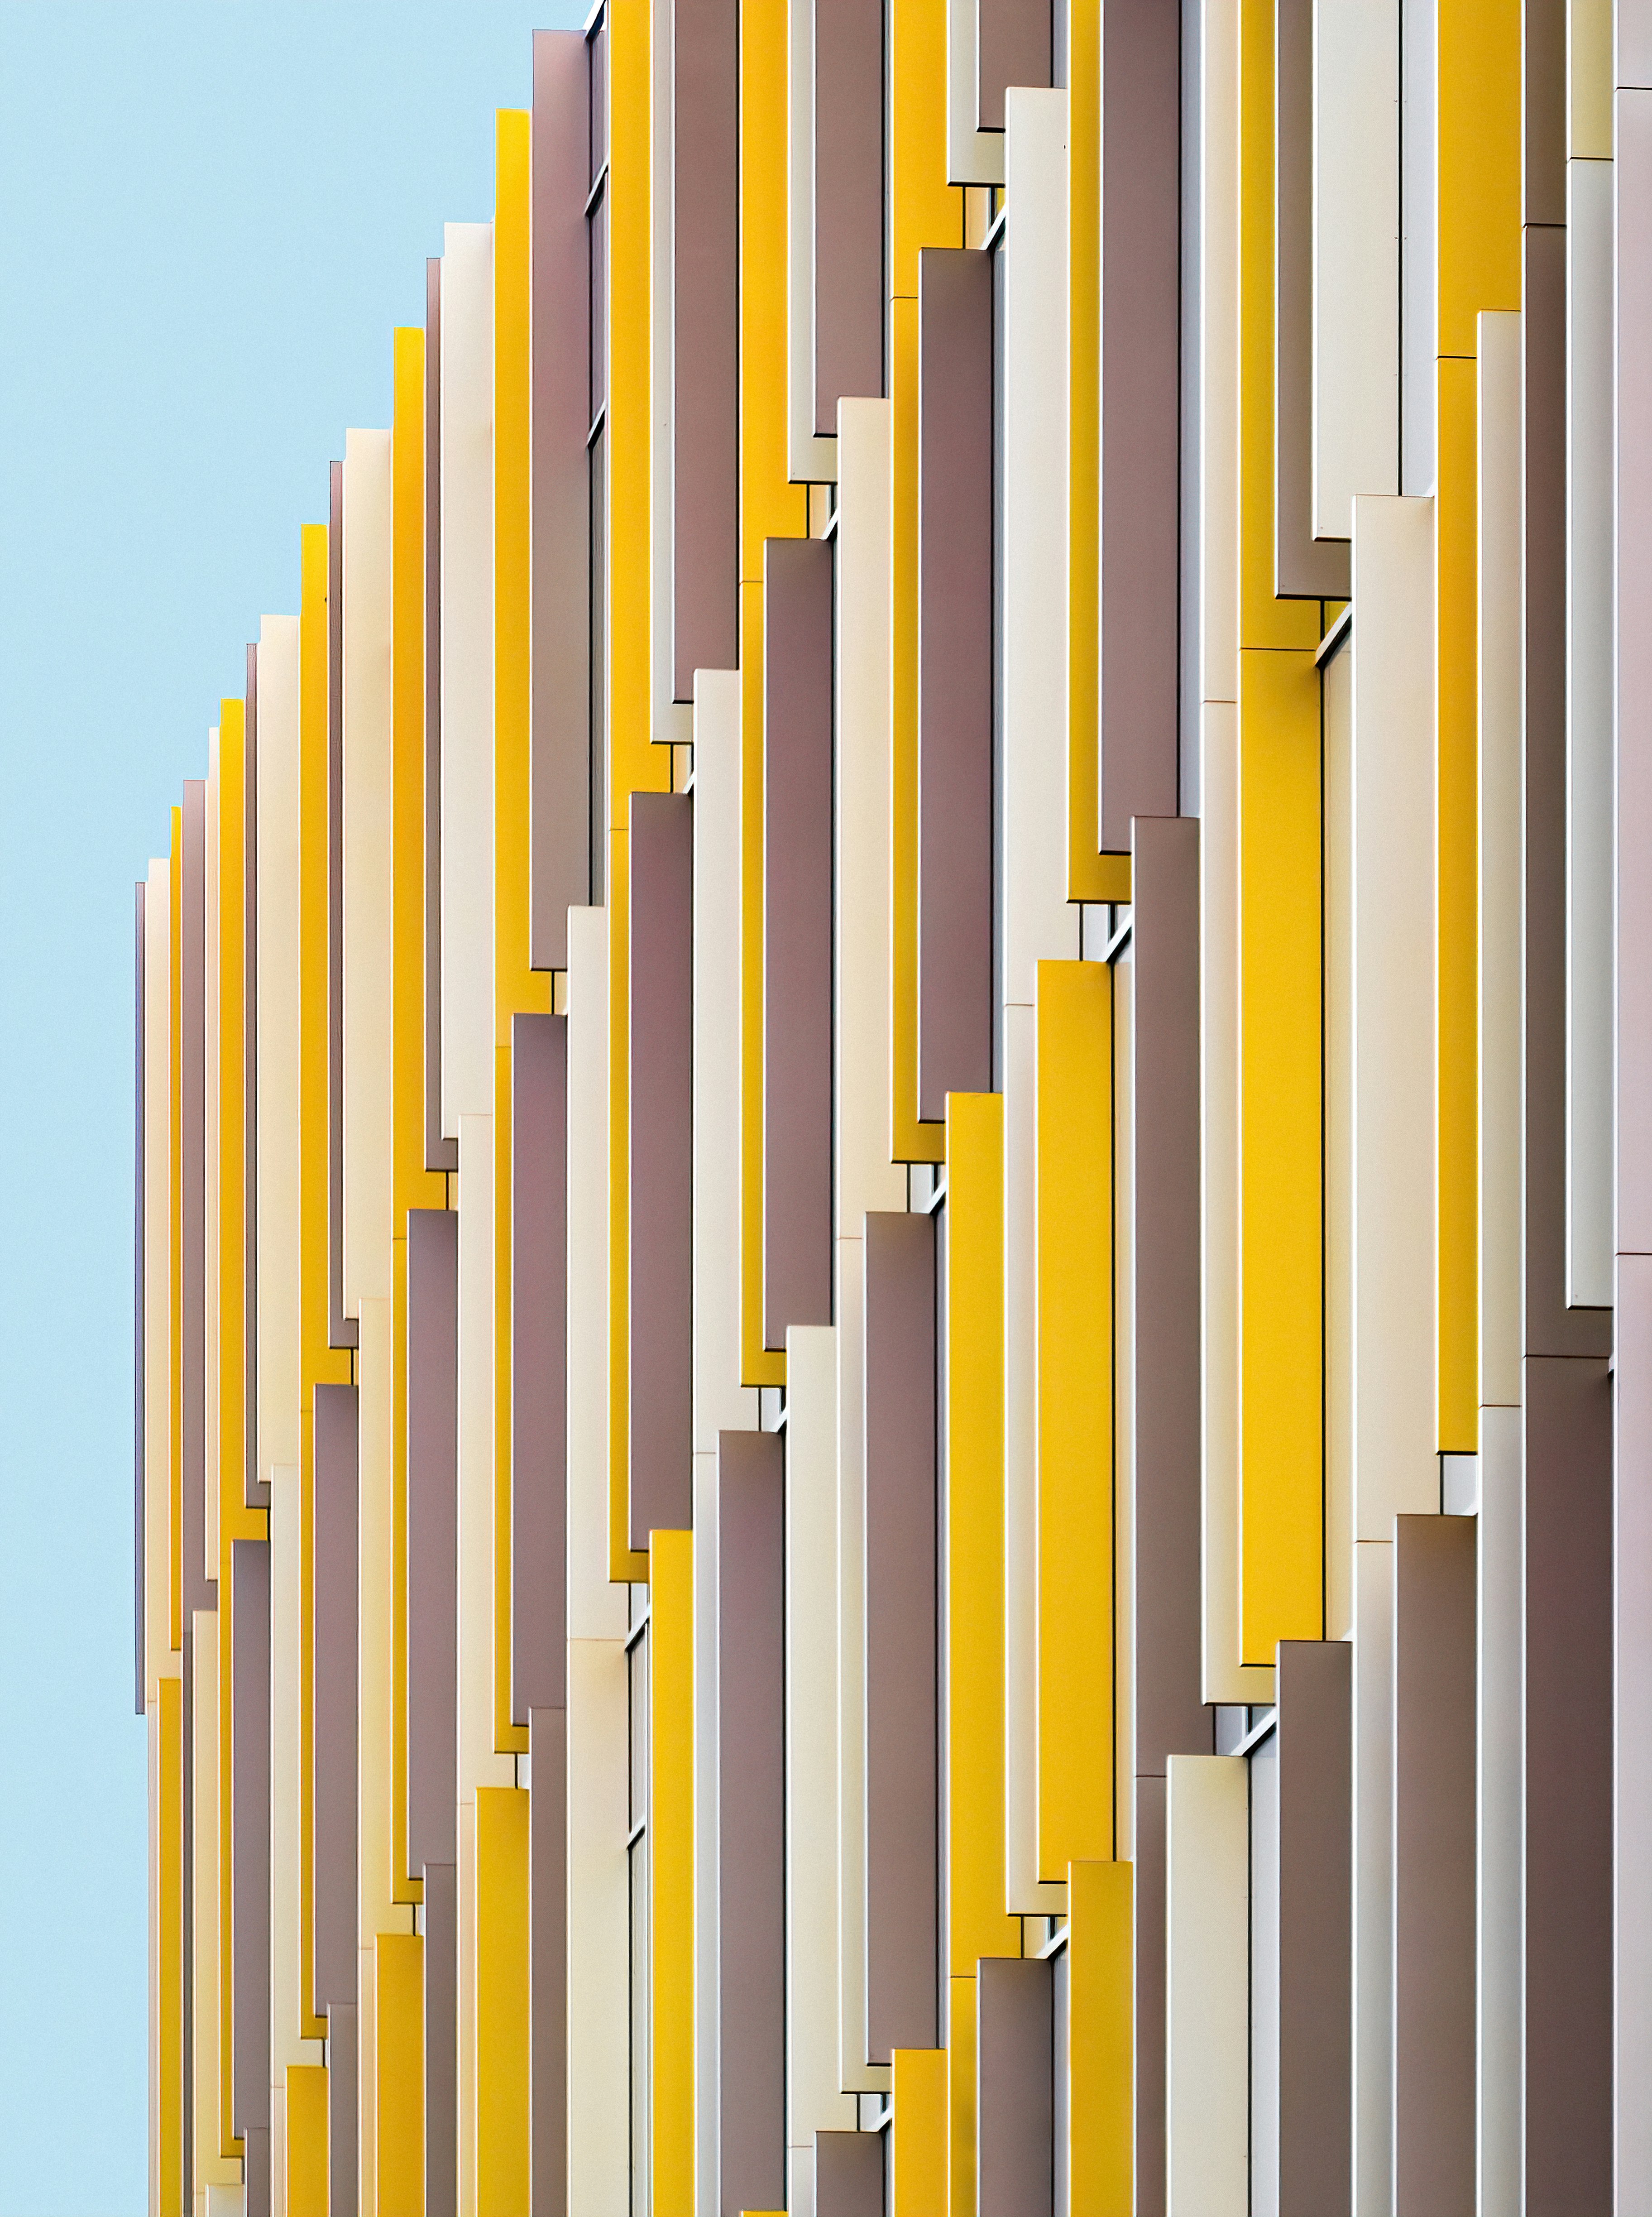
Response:
POLYGON ((528 2208, 528 1794, 477 1787, 477 2217, 528 2208))

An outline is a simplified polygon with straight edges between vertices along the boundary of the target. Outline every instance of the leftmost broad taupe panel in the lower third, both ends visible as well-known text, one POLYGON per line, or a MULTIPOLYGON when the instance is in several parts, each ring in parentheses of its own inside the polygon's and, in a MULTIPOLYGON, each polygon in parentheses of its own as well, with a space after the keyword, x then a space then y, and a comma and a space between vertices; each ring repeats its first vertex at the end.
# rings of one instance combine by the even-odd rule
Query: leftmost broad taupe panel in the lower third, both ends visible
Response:
POLYGON ((271 2122, 271 1547, 231 1545, 231 2097, 235 2133, 271 2122))

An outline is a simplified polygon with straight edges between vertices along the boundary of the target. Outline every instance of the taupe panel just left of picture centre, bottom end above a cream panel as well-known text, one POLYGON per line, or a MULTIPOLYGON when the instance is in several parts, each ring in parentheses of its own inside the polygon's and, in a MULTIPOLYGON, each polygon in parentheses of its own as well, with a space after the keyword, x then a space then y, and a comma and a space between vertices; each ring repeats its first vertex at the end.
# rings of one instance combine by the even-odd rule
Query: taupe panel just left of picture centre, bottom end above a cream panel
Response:
POLYGON ((763 543, 763 1346, 832 1321, 832 548, 763 543))

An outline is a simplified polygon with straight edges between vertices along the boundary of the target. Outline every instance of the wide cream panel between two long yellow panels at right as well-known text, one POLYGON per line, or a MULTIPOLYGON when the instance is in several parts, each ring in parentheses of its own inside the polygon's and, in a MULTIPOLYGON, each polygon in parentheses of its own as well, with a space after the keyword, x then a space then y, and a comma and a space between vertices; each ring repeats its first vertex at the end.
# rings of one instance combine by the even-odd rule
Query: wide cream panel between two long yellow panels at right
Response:
POLYGON ((1355 501, 1355 1536, 1439 1508, 1435 1408, 1435 512, 1355 501))

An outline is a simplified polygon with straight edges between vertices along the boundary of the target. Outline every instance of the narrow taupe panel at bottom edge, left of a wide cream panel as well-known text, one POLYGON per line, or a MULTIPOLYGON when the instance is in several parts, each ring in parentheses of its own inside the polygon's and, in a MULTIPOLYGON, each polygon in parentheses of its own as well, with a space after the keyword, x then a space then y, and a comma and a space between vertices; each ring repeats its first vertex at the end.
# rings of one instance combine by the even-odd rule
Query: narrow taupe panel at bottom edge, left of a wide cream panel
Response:
POLYGON ((532 2210, 568 2213, 568 1712, 528 1712, 532 2210))

